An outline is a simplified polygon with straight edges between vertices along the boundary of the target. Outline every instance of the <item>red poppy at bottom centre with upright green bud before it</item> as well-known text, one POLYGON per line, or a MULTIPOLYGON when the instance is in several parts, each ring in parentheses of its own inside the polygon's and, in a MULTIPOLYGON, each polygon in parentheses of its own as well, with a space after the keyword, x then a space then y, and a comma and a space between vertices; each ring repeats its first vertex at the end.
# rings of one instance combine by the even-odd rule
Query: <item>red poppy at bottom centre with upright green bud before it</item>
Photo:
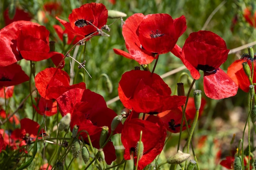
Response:
MULTIPOLYGON (((148 116, 146 120, 130 118, 131 115, 124 122, 121 132, 121 141, 125 148, 124 159, 130 159, 130 151, 135 152, 142 130, 141 141, 144 150, 138 163, 138 170, 142 170, 161 153, 166 138, 166 128, 162 120, 154 115, 148 116)), ((133 157, 136 166, 137 155, 134 153, 133 157)))

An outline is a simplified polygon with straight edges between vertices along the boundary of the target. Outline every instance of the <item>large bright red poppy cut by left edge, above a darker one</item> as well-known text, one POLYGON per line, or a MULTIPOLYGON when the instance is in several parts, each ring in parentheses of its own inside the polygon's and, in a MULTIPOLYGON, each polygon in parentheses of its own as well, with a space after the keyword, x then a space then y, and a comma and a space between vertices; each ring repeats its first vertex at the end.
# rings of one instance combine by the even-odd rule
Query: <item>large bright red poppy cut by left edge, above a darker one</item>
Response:
POLYGON ((45 26, 29 21, 16 21, 1 29, 0 35, 3 37, 0 40, 0 66, 13 64, 22 58, 40 61, 53 56, 56 58, 56 55, 59 55, 57 58, 64 57, 61 53, 50 52, 49 31, 45 26))

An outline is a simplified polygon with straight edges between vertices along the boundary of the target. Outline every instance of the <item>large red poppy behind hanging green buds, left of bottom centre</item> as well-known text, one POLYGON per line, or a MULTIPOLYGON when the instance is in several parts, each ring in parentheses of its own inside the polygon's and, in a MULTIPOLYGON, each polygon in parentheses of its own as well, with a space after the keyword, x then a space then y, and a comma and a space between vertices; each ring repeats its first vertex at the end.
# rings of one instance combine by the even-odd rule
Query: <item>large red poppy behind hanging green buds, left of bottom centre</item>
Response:
MULTIPOLYGON (((102 126, 108 126, 110 134, 111 122, 117 116, 113 110, 107 107, 103 97, 88 89, 74 88, 58 97, 57 102, 62 116, 67 113, 72 115, 70 130, 73 130, 74 125, 79 127, 79 132, 86 130, 90 135, 92 146, 99 148, 102 126)), ((122 124, 120 123, 115 133, 120 133, 121 128, 122 124)), ((88 143, 87 134, 81 132, 80 135, 88 143)), ((116 159, 115 148, 112 142, 108 142, 103 151, 106 162, 111 164, 116 159)))

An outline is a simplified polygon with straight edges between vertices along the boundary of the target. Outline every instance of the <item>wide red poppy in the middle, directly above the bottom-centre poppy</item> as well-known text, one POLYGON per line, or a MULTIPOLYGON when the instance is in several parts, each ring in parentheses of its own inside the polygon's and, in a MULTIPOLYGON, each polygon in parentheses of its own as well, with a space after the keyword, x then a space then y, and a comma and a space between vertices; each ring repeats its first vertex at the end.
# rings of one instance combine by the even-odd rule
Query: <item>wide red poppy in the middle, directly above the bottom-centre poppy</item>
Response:
POLYGON ((157 114, 182 106, 184 96, 170 96, 171 88, 157 74, 132 70, 124 73, 118 94, 124 107, 137 113, 157 114))

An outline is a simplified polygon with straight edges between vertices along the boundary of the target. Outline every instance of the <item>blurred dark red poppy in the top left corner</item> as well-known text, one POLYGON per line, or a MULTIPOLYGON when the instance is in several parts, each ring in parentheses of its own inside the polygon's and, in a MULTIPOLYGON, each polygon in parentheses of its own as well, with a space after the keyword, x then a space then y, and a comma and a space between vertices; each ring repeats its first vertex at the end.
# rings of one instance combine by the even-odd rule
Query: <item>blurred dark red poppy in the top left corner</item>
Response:
POLYGON ((15 15, 14 15, 13 19, 9 18, 8 11, 9 11, 9 9, 6 9, 4 11, 5 25, 9 25, 9 24, 11 24, 12 22, 15 22, 15 21, 21 21, 21 20, 30 21, 31 20, 30 14, 25 12, 23 9, 16 8, 15 15))

